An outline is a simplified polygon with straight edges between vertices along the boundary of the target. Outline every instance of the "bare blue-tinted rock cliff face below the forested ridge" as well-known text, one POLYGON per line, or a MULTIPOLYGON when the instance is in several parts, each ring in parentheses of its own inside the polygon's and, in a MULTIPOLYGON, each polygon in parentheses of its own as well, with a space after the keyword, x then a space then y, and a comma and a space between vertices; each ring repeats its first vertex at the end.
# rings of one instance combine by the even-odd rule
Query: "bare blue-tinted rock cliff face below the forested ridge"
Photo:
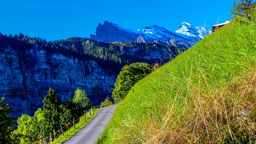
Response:
POLYGON ((49 87, 62 101, 74 96, 76 88, 86 90, 94 105, 100 104, 116 80, 116 74, 100 68, 95 61, 33 49, 0 51, 0 95, 15 109, 14 116, 33 115, 42 107, 49 87))

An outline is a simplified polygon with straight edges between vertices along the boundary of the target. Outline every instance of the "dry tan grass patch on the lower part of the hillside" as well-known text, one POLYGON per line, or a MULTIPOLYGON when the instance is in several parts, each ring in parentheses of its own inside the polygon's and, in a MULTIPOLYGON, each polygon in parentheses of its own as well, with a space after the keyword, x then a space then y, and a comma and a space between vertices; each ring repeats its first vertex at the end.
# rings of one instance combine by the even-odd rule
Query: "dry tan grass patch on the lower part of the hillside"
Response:
MULTIPOLYGON (((190 87, 193 102, 184 104, 180 115, 174 108, 179 97, 176 95, 161 123, 156 123, 154 116, 149 117, 146 124, 138 122, 132 132, 140 130, 138 135, 141 137, 132 143, 218 144, 225 143, 226 137, 236 143, 240 138, 236 137, 238 134, 234 129, 248 132, 248 136, 255 138, 256 123, 248 118, 248 114, 256 108, 256 74, 236 78, 221 90, 209 92, 205 88, 200 87, 199 90, 190 87), (241 115, 244 110, 247 116, 241 115)), ((131 143, 124 139, 121 138, 121 141, 131 143)))

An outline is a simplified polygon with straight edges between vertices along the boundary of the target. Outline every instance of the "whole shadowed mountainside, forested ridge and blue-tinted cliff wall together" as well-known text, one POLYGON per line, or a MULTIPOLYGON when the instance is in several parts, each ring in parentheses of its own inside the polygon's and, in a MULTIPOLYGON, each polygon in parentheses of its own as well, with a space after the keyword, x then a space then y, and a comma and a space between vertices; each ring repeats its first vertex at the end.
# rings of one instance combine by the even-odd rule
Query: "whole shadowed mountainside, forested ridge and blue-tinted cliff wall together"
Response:
POLYGON ((13 115, 33 115, 42 107, 49 87, 62 102, 84 89, 94 105, 111 96, 122 66, 134 62, 164 64, 179 51, 156 42, 98 42, 68 38, 47 42, 0 33, 0 96, 15 109, 13 115), (171 54, 171 55, 169 55, 171 54))

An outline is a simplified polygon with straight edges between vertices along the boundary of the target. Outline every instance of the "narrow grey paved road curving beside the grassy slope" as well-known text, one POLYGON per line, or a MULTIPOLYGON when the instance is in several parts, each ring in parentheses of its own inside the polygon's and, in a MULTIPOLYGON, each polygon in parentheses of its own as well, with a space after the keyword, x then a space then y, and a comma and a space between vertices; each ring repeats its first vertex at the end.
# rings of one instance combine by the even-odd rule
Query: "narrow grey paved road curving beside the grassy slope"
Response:
POLYGON ((112 119, 116 106, 117 104, 98 110, 97 116, 64 144, 94 144, 112 119))

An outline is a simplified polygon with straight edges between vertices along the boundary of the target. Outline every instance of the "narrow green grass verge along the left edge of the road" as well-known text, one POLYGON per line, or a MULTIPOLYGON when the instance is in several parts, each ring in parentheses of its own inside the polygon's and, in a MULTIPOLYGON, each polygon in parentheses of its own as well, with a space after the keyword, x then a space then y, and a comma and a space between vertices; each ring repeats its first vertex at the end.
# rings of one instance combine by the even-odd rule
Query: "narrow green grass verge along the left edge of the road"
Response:
MULTIPOLYGON (((99 109, 94 109, 93 114, 88 116, 86 114, 86 121, 84 119, 84 116, 81 117, 81 122, 78 121, 76 123, 76 128, 73 127, 73 124, 70 125, 70 129, 64 132, 64 136, 60 135, 58 138, 56 138, 56 141, 53 140, 52 144, 62 144, 72 138, 76 133, 78 133, 80 130, 82 130, 87 124, 91 122, 91 120, 97 115, 99 109)), ((52 136, 52 139, 54 139, 54 136, 52 136)))

